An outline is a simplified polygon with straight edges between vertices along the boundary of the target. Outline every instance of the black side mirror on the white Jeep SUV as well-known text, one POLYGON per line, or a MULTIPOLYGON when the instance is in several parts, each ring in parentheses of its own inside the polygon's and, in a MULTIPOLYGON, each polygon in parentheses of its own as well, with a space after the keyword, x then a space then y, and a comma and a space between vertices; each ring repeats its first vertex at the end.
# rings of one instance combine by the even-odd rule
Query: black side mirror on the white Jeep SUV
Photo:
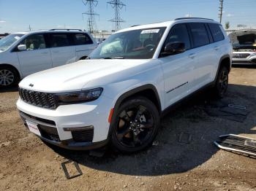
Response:
POLYGON ((165 52, 162 52, 162 55, 176 55, 185 51, 186 49, 184 42, 170 42, 166 44, 165 52))

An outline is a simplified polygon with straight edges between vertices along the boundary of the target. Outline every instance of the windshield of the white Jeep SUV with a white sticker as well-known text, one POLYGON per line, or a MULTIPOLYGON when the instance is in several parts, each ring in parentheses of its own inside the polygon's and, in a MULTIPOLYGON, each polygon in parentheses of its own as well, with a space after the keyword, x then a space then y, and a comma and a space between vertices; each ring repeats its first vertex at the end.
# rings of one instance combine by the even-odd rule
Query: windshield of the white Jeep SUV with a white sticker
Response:
POLYGON ((157 49, 165 27, 145 28, 111 35, 88 59, 149 59, 157 49))

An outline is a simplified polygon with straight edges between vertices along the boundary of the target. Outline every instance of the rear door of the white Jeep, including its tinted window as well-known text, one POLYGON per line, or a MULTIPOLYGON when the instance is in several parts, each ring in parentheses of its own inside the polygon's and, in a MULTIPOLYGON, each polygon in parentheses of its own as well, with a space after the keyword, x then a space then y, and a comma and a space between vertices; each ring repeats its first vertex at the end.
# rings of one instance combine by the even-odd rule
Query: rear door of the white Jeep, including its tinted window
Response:
POLYGON ((214 65, 217 63, 217 53, 214 50, 211 34, 208 34, 206 23, 189 23, 189 29, 195 51, 192 86, 194 90, 197 90, 212 81, 214 65))

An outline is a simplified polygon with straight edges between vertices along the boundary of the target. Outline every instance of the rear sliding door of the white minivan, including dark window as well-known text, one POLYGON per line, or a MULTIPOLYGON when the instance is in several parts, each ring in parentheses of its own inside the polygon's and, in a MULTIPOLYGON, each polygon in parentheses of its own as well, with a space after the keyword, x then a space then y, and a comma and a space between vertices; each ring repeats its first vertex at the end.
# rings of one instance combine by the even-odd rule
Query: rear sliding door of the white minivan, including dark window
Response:
POLYGON ((48 34, 53 67, 75 62, 75 46, 69 33, 48 34))

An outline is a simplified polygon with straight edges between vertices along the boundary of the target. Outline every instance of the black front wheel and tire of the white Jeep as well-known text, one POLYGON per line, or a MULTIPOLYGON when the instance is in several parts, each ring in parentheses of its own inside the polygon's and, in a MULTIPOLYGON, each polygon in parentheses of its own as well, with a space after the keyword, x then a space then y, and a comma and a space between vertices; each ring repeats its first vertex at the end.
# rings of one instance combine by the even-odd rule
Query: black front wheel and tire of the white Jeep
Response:
POLYGON ((118 108, 111 134, 113 146, 121 152, 138 152, 150 146, 157 136, 159 112, 152 101, 130 98, 118 108))

